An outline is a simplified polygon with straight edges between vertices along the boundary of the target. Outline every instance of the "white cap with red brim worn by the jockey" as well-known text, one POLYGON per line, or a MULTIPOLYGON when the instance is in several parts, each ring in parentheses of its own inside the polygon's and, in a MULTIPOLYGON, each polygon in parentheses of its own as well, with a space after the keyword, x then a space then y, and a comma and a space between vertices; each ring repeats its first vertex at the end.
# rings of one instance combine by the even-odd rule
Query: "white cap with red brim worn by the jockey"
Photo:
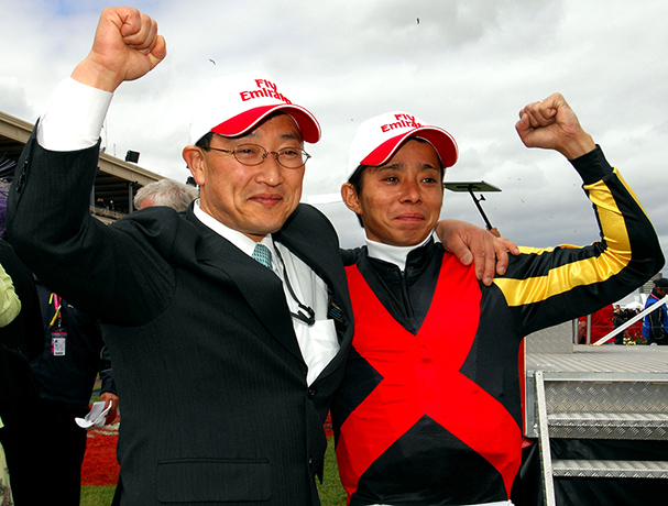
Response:
POLYGON ((360 124, 348 152, 346 177, 360 165, 383 165, 408 138, 419 138, 434 146, 443 167, 457 162, 457 142, 440 127, 426 124, 407 112, 395 111, 371 118, 360 124))

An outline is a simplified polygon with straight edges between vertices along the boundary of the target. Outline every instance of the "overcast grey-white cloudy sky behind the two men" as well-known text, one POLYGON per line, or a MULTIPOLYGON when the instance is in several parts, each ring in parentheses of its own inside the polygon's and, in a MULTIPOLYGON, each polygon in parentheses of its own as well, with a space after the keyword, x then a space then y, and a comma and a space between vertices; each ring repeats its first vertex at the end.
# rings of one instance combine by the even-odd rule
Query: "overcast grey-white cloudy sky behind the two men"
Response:
MULTIPOLYGON (((446 180, 485 180, 482 206, 518 244, 588 244, 591 205, 570 164, 527 150, 514 124, 526 103, 561 92, 634 188, 668 245, 668 2, 665 0, 138 1, 167 58, 124 84, 108 116, 107 152, 185 182, 186 105, 216 76, 261 69, 320 121, 306 145, 303 199, 338 194, 348 145, 372 116, 405 110, 457 139, 446 180)), ((105 2, 2 0, 0 110, 33 122, 88 53, 105 2), (10 7, 11 4, 11 7, 10 7)), ((319 206, 343 245, 361 229, 342 204, 319 206)), ((467 194, 443 216, 483 226, 467 194)))

